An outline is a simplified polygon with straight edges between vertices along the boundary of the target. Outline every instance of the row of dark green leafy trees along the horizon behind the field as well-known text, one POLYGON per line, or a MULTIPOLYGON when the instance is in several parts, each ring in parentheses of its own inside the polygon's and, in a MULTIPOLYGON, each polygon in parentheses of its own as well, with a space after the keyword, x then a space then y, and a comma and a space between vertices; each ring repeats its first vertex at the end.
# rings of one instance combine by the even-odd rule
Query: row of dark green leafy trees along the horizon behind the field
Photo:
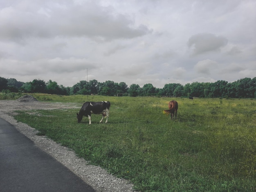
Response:
POLYGON ((228 83, 225 80, 218 80, 215 83, 168 83, 163 88, 156 88, 151 83, 140 87, 126 83, 115 83, 107 80, 100 83, 97 80, 81 80, 72 87, 58 85, 57 82, 49 80, 34 79, 31 82, 20 82, 14 78, 0 77, 0 92, 25 92, 25 93, 47 93, 58 95, 103 95, 115 96, 128 93, 130 96, 174 96, 174 97, 200 97, 200 98, 256 98, 256 77, 243 78, 228 83))

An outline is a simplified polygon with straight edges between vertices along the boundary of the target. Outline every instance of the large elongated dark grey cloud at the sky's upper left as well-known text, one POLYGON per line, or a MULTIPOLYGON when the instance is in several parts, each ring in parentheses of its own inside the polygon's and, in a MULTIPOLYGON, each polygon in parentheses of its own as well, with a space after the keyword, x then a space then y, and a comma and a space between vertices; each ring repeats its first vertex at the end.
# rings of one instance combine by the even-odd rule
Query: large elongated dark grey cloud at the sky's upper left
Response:
POLYGON ((86 6, 36 7, 39 9, 16 11, 14 7, 2 9, 5 18, 0 19, 0 38, 20 40, 29 37, 50 38, 56 36, 101 37, 104 40, 135 38, 149 33, 145 25, 135 26, 123 14, 112 14, 112 9, 94 3, 86 6), (95 11, 97 10, 97 11, 95 11))

